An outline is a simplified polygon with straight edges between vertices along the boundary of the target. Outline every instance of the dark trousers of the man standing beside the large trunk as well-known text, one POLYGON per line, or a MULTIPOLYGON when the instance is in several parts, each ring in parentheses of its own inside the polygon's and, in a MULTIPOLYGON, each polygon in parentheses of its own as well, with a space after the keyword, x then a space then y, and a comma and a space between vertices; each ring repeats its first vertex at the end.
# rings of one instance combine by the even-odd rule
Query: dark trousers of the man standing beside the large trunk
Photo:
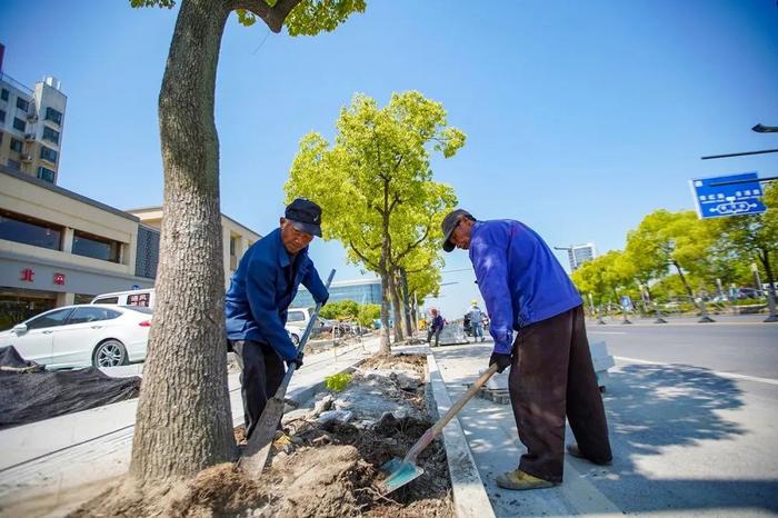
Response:
POLYGON ((259 418, 281 386, 286 369, 278 352, 267 343, 252 340, 233 340, 232 349, 240 362, 240 395, 243 397, 246 438, 251 437, 259 418))

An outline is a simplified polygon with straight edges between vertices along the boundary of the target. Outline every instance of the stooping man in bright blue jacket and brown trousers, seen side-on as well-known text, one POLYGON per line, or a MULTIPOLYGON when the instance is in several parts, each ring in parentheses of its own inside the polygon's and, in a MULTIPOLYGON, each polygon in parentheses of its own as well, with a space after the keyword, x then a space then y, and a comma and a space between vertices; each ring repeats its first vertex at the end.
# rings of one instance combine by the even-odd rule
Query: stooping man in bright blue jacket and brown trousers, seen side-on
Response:
POLYGON ((518 469, 497 477, 498 486, 561 484, 566 416, 578 442, 568 452, 610 464, 608 422, 582 301, 548 245, 519 221, 478 221, 462 209, 446 216, 442 230, 443 250, 469 251, 491 318, 495 350, 489 365, 497 363, 499 372, 510 367, 510 401, 527 452, 518 469))

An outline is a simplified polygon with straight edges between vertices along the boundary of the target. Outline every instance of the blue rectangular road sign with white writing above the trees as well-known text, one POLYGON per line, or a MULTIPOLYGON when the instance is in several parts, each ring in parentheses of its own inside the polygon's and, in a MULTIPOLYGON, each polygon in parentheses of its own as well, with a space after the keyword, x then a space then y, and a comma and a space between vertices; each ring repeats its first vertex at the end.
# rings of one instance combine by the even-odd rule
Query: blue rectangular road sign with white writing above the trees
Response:
POLYGON ((691 180, 697 213, 700 218, 758 215, 764 212, 761 183, 756 171, 740 172, 725 177, 697 178, 691 180), (754 180, 742 183, 717 183, 754 180))

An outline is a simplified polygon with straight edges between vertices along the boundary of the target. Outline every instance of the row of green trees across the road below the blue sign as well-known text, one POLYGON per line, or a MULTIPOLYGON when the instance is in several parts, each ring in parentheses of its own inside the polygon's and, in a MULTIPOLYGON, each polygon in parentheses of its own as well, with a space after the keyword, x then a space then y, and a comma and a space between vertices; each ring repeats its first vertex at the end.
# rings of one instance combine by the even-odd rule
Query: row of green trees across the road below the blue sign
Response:
POLYGON ((694 299, 720 286, 750 285, 756 262, 775 297, 778 186, 768 186, 762 201, 768 210, 755 216, 701 220, 690 210, 651 212, 627 235, 625 250, 585 262, 572 279, 596 305, 644 293, 666 301, 678 297, 679 289, 694 299))

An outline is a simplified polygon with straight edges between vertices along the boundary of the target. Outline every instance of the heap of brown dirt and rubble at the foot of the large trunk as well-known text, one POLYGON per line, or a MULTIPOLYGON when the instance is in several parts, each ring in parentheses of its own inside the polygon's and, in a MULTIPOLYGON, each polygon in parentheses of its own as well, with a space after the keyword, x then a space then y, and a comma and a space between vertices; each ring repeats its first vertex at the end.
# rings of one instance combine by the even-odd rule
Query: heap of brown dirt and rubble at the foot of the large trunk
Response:
MULTIPOLYGON (((380 466, 403 457, 431 426, 423 408, 423 382, 417 382, 425 372, 423 357, 389 357, 362 366, 342 392, 320 395, 309 409, 285 418, 288 436, 273 442, 270 467, 258 480, 233 465, 221 465, 172 488, 140 491, 126 482, 72 516, 451 517, 440 439, 418 458, 425 475, 386 496, 377 486, 385 478, 380 466), (391 410, 378 419, 375 409, 362 412, 353 394, 368 392, 389 400, 391 410), (352 412, 348 419, 319 419, 343 401, 353 404, 345 411, 352 412)), ((240 434, 237 430, 237 439, 240 434)))

